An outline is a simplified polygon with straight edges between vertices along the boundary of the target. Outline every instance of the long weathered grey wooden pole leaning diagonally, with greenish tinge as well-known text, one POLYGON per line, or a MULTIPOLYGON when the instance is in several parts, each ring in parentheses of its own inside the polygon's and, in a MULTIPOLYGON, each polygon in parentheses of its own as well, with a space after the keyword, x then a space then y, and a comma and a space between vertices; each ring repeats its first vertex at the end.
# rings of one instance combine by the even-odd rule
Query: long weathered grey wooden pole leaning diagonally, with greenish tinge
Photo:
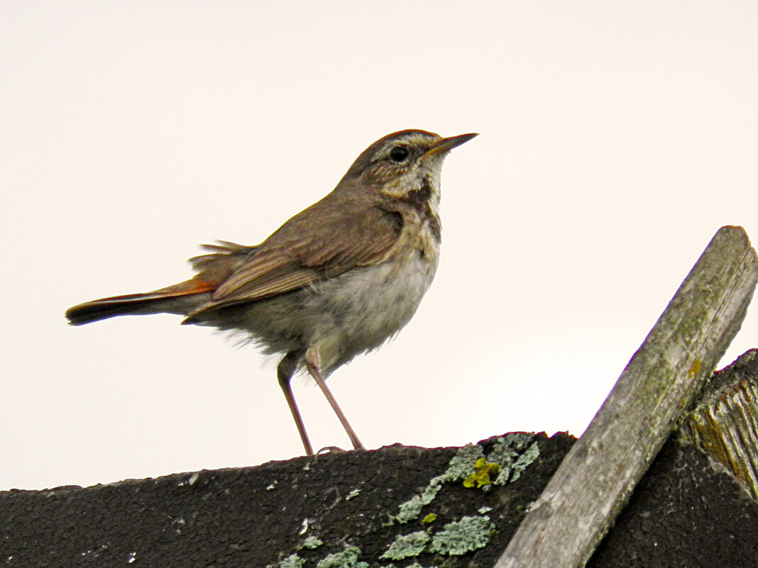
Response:
POLYGON ((584 566, 741 326, 758 258, 719 229, 496 568, 584 566))

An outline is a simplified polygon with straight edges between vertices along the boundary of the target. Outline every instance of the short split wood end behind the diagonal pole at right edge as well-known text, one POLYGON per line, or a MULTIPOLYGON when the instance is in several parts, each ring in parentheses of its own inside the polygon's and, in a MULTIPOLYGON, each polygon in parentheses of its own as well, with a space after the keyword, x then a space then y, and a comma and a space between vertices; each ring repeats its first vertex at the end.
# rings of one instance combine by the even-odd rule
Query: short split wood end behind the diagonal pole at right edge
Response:
POLYGON ((703 448, 758 500, 758 351, 716 373, 679 436, 703 448))

